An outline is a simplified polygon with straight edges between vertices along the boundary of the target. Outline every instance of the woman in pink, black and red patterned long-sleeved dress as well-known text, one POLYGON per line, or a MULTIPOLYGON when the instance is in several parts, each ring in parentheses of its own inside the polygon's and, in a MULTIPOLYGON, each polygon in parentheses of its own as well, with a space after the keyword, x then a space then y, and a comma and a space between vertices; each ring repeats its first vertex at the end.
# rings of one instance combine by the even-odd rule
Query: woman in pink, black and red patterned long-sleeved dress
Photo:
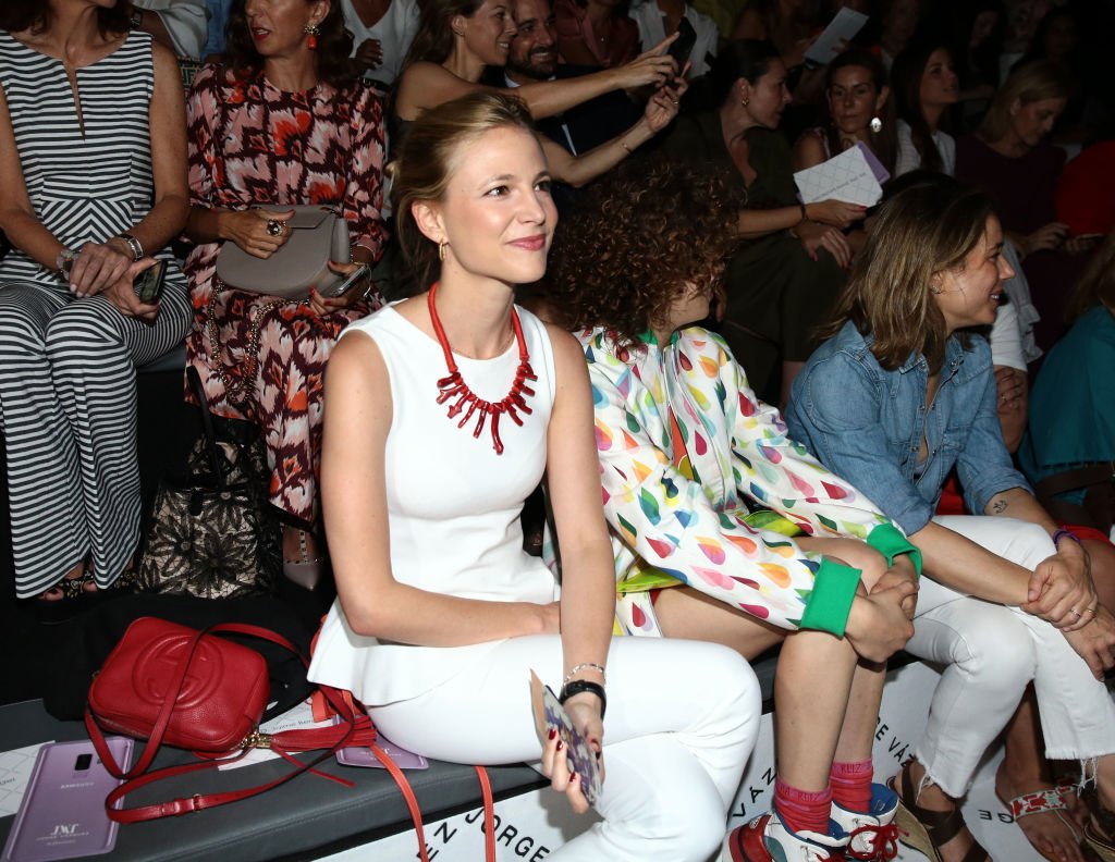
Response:
POLYGON ((202 69, 188 101, 186 235, 197 245, 186 261, 194 306, 186 348, 211 409, 262 429, 291 573, 319 562, 326 361, 345 326, 381 301, 368 281, 338 299, 311 293, 306 303, 264 308, 274 298, 221 282, 216 258, 223 242, 268 258, 290 235, 282 229, 290 205, 332 204, 348 221, 353 265, 376 261, 386 239, 382 108, 350 75, 352 37, 328 0, 248 0, 229 36, 225 65, 202 69))

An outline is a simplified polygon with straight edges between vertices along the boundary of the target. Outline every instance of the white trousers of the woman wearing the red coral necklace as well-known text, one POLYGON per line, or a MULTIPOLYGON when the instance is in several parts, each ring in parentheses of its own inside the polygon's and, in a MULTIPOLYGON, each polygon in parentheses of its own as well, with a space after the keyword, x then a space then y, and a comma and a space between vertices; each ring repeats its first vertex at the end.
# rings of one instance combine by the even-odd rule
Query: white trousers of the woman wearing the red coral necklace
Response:
MULTIPOLYGON (((555 691, 561 639, 513 638, 419 697, 369 709, 405 748, 456 763, 536 762, 530 670, 555 691)), ((715 643, 614 638, 608 656, 603 817, 551 859, 704 862, 724 840, 728 806, 758 734, 750 666, 715 643)))

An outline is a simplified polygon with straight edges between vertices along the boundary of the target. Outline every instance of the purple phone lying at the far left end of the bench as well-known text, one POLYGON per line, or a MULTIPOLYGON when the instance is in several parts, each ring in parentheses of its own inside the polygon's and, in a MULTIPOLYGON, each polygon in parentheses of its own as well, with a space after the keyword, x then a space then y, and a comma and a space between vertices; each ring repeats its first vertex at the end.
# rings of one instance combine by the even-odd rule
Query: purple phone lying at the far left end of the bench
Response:
MULTIPOLYGON (((133 740, 109 737, 108 749, 123 768, 133 740)), ((39 749, 27 791, 3 849, 3 862, 49 862, 107 853, 116 846, 117 823, 105 813, 105 796, 119 781, 97 757, 93 743, 47 743, 39 749), (88 755, 88 766, 77 768, 88 755)))

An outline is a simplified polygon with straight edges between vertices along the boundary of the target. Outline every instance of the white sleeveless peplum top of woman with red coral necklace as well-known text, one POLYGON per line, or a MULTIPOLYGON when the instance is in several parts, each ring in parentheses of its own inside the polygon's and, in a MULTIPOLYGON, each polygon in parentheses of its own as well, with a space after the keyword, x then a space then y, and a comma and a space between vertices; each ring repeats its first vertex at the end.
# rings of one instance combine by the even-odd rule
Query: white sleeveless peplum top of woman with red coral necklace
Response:
MULTIPOLYGON (((543 323, 518 309, 537 381, 529 384, 532 414, 522 427, 500 422, 496 455, 491 418, 478 437, 458 428, 437 404, 437 380, 448 371, 436 340, 390 306, 351 323, 342 338, 363 333, 384 357, 391 386, 386 482, 391 572, 429 592, 487 601, 549 603, 559 595, 553 574, 523 551, 520 512, 545 469, 546 428, 554 400, 554 362, 543 323)), ((507 395, 518 368, 513 342, 502 356, 477 360, 454 355, 460 375, 481 398, 507 395)), ((481 660, 501 641, 467 647, 416 647, 352 632, 340 601, 318 638, 309 678, 345 688, 361 703, 385 706, 417 697, 481 660)))

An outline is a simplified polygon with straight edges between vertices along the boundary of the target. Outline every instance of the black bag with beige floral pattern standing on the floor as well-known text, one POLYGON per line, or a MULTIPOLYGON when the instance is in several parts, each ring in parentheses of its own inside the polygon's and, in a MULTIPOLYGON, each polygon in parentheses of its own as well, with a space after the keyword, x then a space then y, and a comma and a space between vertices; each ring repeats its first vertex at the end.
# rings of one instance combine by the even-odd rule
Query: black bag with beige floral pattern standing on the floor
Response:
POLYGON ((190 454, 188 475, 164 478, 155 492, 138 587, 203 599, 273 593, 282 551, 263 440, 246 423, 224 420, 215 429, 197 370, 190 367, 186 376, 204 433, 190 454))

